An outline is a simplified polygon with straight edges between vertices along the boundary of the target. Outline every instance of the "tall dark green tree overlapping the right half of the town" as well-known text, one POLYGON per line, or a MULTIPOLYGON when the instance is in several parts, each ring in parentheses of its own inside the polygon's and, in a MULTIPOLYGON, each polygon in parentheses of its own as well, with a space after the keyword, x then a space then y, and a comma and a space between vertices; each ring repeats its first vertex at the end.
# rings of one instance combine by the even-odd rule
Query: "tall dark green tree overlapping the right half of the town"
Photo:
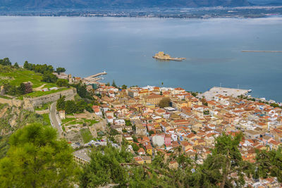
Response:
POLYGON ((231 135, 223 134, 216 138, 212 155, 207 157, 196 173, 200 177, 197 184, 204 187, 216 184, 220 184, 220 187, 233 187, 233 182, 238 187, 245 184, 244 176, 250 177, 254 173, 254 169, 249 162, 242 159, 238 149, 241 138, 242 134, 238 134, 234 138, 231 135), (232 173, 237 176, 231 176, 232 173))

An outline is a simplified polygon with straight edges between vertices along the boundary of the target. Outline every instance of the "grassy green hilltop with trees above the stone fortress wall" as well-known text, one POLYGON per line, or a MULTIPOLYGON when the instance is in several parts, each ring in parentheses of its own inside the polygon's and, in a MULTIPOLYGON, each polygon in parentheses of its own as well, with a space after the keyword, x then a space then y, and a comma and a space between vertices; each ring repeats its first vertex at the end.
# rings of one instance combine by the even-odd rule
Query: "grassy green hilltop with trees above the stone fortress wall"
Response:
MULTIPOLYGON (((0 59, 0 85, 4 86, 4 94, 10 96, 42 96, 54 92, 62 91, 51 90, 42 92, 40 89, 49 89, 51 87, 69 87, 67 80, 61 80, 52 74, 62 73, 65 68, 57 68, 54 70, 51 65, 32 64, 25 61, 23 68, 18 63, 12 65, 8 58, 0 59)), ((3 94, 3 93, 2 93, 3 94)))

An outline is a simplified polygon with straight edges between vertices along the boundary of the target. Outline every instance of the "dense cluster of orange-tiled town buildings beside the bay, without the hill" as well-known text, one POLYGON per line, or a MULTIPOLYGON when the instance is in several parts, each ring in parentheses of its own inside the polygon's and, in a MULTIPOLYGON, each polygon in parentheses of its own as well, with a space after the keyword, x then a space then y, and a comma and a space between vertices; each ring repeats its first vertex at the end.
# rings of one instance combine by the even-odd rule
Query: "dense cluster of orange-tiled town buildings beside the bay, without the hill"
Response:
MULTIPOLYGON (((104 130, 114 132, 111 142, 128 142, 128 151, 140 164, 151 163, 159 152, 167 160, 171 151, 179 148, 202 164, 221 134, 243 132, 240 153, 251 163, 255 162, 256 149, 276 150, 282 145, 281 106, 256 101, 244 89, 214 87, 212 92, 198 94, 180 87, 119 89, 98 82, 96 86, 94 94, 101 105, 92 106, 95 115, 106 120, 104 130)), ((89 145, 105 142, 103 137, 89 145)), ((80 163, 90 161, 86 151, 75 151, 80 163)), ((178 168, 178 163, 170 161, 169 168, 178 168)), ((245 181, 253 187, 278 187, 276 178, 255 182, 245 177, 245 181)))

